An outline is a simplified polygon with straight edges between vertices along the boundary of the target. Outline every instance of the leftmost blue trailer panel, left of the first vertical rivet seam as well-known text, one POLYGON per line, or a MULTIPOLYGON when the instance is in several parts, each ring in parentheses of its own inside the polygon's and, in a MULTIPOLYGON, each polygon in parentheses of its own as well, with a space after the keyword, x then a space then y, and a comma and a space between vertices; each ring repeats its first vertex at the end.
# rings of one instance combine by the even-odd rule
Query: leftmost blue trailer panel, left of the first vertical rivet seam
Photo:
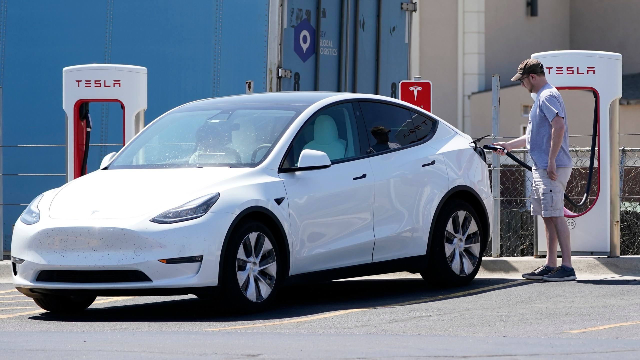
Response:
MULTIPOLYGON (((12 1, 6 17, 3 145, 64 144, 62 68, 103 62, 105 2, 12 1)), ((4 173, 64 174, 65 152, 60 149, 64 148, 4 148, 4 173)), ((64 182, 63 176, 3 176, 4 203, 28 203, 64 182)), ((8 250, 12 225, 24 206, 3 210, 8 250)))

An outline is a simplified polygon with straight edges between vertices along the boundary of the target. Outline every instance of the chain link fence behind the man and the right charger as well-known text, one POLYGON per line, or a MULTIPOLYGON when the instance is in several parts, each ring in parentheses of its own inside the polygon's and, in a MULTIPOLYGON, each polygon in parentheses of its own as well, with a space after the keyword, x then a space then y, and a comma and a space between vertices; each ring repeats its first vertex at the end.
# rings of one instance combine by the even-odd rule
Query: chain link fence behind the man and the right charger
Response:
MULTIPOLYGON (((520 160, 532 165, 525 149, 513 150, 520 160)), ((567 184, 567 195, 582 200, 589 173, 590 148, 570 148, 573 170, 567 184)), ((486 152, 492 165, 492 154, 486 152)), ((533 256, 534 217, 531 215, 531 172, 506 156, 500 156, 500 256, 533 256)), ((588 207, 598 195, 598 152, 589 192, 588 207)), ((489 170, 491 178, 492 171, 489 170)), ((566 200, 564 206, 573 212, 566 200)), ((544 229, 541 229, 544 231, 544 229)), ((484 256, 492 256, 491 241, 484 256)), ((620 255, 640 255, 640 148, 620 149, 620 255)))

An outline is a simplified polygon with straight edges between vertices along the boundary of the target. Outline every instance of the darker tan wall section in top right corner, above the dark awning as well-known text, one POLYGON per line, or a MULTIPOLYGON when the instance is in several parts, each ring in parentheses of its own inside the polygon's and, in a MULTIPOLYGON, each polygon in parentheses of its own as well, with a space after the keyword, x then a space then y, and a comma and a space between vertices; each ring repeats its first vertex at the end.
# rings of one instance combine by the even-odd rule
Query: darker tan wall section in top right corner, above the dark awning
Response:
POLYGON ((640 1, 571 0, 570 17, 572 49, 620 53, 623 74, 640 72, 640 1))

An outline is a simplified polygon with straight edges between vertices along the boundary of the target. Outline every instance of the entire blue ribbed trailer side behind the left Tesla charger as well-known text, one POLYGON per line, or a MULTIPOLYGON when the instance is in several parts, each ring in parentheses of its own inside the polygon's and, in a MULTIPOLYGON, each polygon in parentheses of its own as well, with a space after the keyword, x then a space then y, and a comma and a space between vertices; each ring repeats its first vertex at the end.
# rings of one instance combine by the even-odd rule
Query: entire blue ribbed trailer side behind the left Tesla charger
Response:
MULTIPOLYGON (((110 62, 147 67, 147 123, 185 102, 243 94, 245 80, 254 80, 257 91, 264 91, 268 3, 12 1, 5 37, 4 145, 65 143, 61 75, 62 68, 70 65, 110 62)), ((106 108, 92 104, 90 113, 91 143, 122 141, 122 111, 117 104, 106 108)), ((102 156, 118 149, 91 147, 90 170, 97 168, 102 156)), ((5 147, 3 173, 64 174, 64 154, 65 147, 5 147)), ((28 203, 64 182, 63 176, 4 176, 4 203, 28 203)), ((23 209, 4 206, 6 250, 12 225, 23 209)))

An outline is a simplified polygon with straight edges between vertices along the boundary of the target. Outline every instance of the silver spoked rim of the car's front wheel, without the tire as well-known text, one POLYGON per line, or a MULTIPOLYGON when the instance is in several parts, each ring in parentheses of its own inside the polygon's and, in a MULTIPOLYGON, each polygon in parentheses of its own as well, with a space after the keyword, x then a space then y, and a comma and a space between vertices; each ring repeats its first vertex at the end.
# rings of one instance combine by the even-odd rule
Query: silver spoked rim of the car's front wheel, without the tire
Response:
POLYGON ((238 249, 236 275, 247 299, 260 302, 273 290, 276 280, 276 254, 264 234, 248 234, 238 249))

